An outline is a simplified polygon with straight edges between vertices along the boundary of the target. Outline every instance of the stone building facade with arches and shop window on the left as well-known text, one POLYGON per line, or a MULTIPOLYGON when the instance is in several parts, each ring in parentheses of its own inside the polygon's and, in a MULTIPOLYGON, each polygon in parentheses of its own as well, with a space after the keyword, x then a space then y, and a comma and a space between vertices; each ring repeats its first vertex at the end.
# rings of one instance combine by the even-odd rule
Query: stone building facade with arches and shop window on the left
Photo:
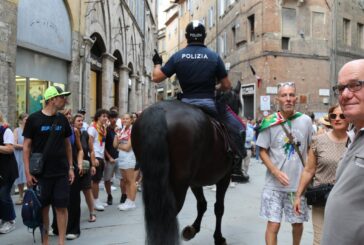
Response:
POLYGON ((70 90, 88 121, 98 108, 149 106, 156 16, 155 0, 1 1, 0 111, 14 125, 50 85, 70 90))

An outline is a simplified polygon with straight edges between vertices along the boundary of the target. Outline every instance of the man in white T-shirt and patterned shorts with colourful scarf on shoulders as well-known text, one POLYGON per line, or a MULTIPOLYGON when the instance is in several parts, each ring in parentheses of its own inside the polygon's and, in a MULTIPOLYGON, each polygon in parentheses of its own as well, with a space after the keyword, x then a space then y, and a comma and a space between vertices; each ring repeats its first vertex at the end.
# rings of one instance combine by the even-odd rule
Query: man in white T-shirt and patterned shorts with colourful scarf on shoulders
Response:
POLYGON ((311 142, 312 123, 309 116, 295 112, 297 96, 293 82, 278 84, 276 100, 279 111, 263 120, 257 140, 260 158, 267 167, 260 216, 268 220, 266 244, 277 244, 284 212, 286 222, 292 225, 293 244, 298 245, 303 222, 309 218, 308 208, 301 198, 301 214, 295 215, 293 201, 311 142))

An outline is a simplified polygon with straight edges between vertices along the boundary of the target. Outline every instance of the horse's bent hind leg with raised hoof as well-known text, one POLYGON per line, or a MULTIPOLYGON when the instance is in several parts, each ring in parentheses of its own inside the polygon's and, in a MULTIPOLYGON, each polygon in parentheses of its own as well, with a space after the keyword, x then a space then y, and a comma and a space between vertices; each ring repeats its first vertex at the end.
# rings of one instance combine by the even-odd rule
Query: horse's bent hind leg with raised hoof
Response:
POLYGON ((182 237, 186 241, 194 238, 195 235, 200 231, 202 217, 207 209, 207 202, 203 194, 202 187, 191 187, 191 190, 197 200, 197 218, 191 226, 186 226, 182 231, 182 237))

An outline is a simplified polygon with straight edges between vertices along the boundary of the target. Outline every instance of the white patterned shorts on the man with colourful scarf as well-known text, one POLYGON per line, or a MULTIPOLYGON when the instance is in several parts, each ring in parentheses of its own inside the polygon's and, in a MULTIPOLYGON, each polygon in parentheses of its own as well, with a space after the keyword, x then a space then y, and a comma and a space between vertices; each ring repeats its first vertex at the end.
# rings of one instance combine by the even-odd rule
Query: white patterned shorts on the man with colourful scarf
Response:
POLYGON ((260 217, 271 222, 281 223, 283 212, 286 222, 291 224, 307 222, 308 207, 306 198, 301 197, 301 214, 296 215, 293 211, 294 193, 263 189, 260 217))

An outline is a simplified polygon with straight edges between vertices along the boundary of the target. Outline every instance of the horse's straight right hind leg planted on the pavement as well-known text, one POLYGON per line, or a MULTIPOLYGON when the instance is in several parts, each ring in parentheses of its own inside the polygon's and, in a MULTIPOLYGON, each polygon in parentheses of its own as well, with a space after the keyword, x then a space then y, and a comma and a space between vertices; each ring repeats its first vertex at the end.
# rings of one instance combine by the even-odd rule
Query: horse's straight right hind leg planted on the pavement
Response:
POLYGON ((224 200, 225 193, 230 183, 230 173, 227 174, 216 184, 216 203, 215 203, 215 216, 216 227, 214 233, 215 245, 226 244, 225 238, 221 234, 221 219, 224 214, 224 200))

